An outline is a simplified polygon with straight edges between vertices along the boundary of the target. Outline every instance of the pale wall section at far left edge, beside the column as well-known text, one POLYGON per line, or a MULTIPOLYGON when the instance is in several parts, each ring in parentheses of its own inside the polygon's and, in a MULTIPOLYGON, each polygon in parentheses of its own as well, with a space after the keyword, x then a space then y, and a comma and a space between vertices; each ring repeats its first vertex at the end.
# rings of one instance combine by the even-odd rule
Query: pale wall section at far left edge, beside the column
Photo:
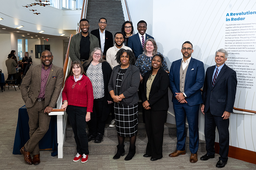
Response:
POLYGON ((11 52, 11 35, 10 34, 0 34, 0 69, 5 75, 5 80, 8 77, 7 68, 5 65, 5 60, 7 60, 8 54, 11 52))

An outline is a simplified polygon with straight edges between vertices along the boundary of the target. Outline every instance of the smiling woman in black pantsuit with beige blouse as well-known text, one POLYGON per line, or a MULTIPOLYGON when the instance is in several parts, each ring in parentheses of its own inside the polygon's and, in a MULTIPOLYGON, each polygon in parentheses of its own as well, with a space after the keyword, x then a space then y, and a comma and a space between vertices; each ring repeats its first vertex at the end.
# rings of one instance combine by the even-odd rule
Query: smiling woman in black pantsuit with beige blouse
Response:
POLYGON ((151 161, 163 157, 164 122, 169 108, 169 75, 162 70, 162 55, 154 55, 152 69, 145 74, 142 82, 142 106, 145 109, 145 126, 148 136, 146 154, 151 161))

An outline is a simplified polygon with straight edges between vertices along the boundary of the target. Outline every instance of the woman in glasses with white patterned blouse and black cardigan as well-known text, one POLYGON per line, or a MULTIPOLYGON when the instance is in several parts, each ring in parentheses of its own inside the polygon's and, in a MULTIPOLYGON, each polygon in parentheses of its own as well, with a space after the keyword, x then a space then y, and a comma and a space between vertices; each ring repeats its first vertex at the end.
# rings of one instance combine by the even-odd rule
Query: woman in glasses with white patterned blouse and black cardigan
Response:
POLYGON ((108 82, 112 69, 108 62, 102 59, 102 52, 99 47, 92 50, 83 67, 92 82, 94 96, 91 120, 88 121, 89 133, 87 139, 88 142, 94 140, 95 143, 101 143, 103 141, 105 123, 110 113, 108 105, 113 102, 108 92, 108 82))

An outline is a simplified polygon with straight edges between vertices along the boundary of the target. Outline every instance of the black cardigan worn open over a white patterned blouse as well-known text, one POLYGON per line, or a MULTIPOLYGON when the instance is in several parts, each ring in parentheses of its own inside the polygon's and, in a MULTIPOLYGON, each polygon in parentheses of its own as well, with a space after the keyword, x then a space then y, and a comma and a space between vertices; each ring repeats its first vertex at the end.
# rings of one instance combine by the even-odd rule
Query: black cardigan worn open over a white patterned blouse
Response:
MULTIPOLYGON (((86 73, 90 64, 88 64, 87 66, 83 66, 83 69, 84 69, 85 73, 86 73)), ((110 76, 111 76, 111 73, 112 73, 112 68, 108 64, 107 61, 102 62, 102 73, 103 73, 103 81, 104 81, 104 106, 103 106, 104 112, 102 113, 102 121, 105 121, 105 120, 108 119, 108 115, 110 114, 107 101, 113 101, 111 95, 108 92, 108 82, 110 80, 110 76)))

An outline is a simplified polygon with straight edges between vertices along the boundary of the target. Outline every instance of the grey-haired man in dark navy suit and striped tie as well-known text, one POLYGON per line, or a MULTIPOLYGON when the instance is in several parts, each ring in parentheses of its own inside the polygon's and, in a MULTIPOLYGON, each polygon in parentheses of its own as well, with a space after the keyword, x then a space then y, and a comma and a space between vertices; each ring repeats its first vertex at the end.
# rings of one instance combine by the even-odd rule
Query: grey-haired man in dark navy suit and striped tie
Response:
POLYGON ((214 158, 217 126, 220 144, 217 168, 223 168, 228 161, 229 116, 233 112, 236 97, 236 72, 225 64, 227 57, 228 52, 225 49, 216 51, 216 65, 207 68, 202 93, 201 111, 204 113, 204 136, 207 153, 200 160, 214 158))

